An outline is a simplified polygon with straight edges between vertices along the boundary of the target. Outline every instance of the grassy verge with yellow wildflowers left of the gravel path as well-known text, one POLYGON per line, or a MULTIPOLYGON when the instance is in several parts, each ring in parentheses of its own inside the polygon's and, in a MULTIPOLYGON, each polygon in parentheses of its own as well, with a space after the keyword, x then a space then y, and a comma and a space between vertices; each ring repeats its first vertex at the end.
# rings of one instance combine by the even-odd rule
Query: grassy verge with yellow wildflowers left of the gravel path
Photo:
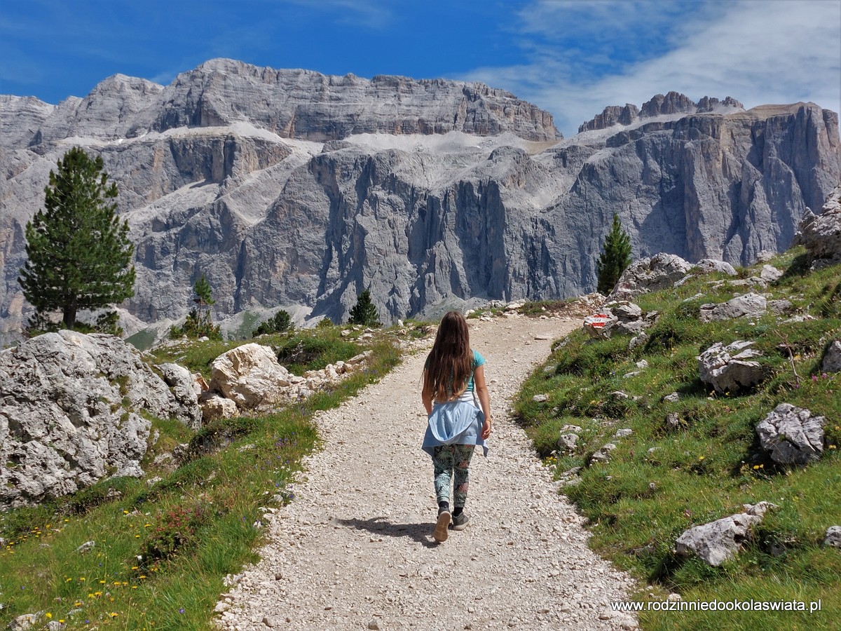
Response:
MULTIPOLYGON (((204 346, 195 357, 211 353, 204 346)), ((44 612, 37 628, 50 620, 68 629, 211 628, 213 607, 226 591, 223 577, 256 560, 261 508, 294 501, 294 474, 319 442, 313 413, 338 406, 399 363, 389 342, 373 350, 366 369, 273 414, 229 419, 198 433, 153 420, 158 439, 144 466, 161 477, 154 485, 101 480, 41 506, 0 513, 6 541, 0 627, 44 612), (225 439, 214 443, 220 435, 225 439), (154 456, 178 443, 189 443, 186 464, 156 469, 154 456), (93 549, 78 552, 89 540, 93 549)))

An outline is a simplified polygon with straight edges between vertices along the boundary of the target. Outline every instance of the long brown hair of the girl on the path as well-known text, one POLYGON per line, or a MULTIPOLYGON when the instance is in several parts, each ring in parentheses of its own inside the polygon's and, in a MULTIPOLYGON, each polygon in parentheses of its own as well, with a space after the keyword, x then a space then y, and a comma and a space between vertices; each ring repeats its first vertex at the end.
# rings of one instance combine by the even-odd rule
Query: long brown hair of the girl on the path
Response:
POLYGON ((473 373, 468 322, 458 311, 441 320, 438 333, 423 370, 423 392, 434 400, 445 401, 461 395, 473 373))

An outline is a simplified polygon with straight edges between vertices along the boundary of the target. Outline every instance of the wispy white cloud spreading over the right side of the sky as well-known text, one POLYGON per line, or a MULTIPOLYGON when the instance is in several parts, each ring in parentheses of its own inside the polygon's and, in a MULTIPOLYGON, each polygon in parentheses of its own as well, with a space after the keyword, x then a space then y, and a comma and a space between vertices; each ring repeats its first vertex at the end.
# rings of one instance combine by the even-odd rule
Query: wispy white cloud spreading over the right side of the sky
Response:
MULTIPOLYGON (((627 4, 634 11, 641 8, 640 3, 627 4)), ((640 24, 638 19, 630 22, 631 13, 637 13, 623 11, 623 6, 597 3, 600 15, 595 24, 600 25, 602 37, 610 32, 624 37, 629 24, 640 24), (609 7, 619 8, 619 13, 606 11, 609 7)), ((559 7, 570 8, 567 3, 559 7)), ((528 36, 539 27, 544 34, 562 35, 534 46, 528 65, 479 68, 468 78, 505 87, 549 110, 564 135, 574 134, 581 122, 607 105, 641 105, 669 90, 694 100, 705 95, 732 96, 746 108, 813 101, 824 108, 841 109, 841 0, 711 3, 673 26, 669 50, 663 54, 630 64, 616 59, 615 72, 593 79, 577 66, 586 67, 590 58, 553 49, 553 43, 563 45, 568 29, 580 26, 586 36, 594 28, 592 22, 576 26, 570 22, 573 17, 569 11, 559 13, 553 3, 536 3, 523 14, 523 34, 528 36)), ((669 19, 681 16, 672 14, 669 19)), ((611 49, 608 41, 600 46, 611 49)))

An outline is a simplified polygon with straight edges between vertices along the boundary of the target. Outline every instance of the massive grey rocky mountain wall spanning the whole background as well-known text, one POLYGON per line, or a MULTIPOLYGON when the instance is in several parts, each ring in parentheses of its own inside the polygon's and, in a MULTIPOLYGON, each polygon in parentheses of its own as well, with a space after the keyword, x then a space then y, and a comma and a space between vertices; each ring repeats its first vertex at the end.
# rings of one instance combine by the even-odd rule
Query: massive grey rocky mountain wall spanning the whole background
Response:
POLYGON ((167 87, 112 77, 57 106, 0 98, 0 316, 56 158, 103 156, 136 243, 139 321, 177 318, 205 273, 217 317, 306 305, 383 319, 595 286, 618 213, 633 256, 752 262, 841 180, 838 115, 672 93, 559 140, 479 83, 325 77, 209 61, 167 87), (644 114, 644 115, 643 115, 644 114))

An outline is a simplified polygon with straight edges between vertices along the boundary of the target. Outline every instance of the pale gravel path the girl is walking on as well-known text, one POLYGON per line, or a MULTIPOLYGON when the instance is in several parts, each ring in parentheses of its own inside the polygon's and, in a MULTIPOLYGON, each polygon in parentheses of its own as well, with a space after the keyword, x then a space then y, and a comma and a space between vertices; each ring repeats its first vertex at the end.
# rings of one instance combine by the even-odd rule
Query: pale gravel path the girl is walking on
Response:
POLYGON ((494 434, 470 468, 470 524, 432 539, 432 465, 421 451, 426 351, 317 422, 295 500, 269 523, 262 560, 216 610, 225 629, 636 628, 609 603, 632 580, 587 548, 583 519, 553 485, 510 399, 579 320, 470 321, 488 360, 494 434))

